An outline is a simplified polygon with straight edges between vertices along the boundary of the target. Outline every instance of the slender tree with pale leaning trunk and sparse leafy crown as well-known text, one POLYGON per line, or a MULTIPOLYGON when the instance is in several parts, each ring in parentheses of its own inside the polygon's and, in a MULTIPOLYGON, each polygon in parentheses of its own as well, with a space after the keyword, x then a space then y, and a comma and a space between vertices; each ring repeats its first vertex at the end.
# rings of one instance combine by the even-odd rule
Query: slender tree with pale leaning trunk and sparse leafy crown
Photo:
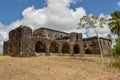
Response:
POLYGON ((104 63, 103 52, 102 52, 102 47, 101 47, 101 44, 100 44, 100 40, 99 40, 99 36, 98 36, 96 28, 97 27, 103 28, 104 24, 105 24, 105 21, 106 20, 104 18, 100 18, 100 17, 94 16, 94 15, 83 16, 82 18, 80 18, 79 27, 78 27, 78 29, 79 28, 87 28, 87 29, 92 28, 92 29, 94 29, 95 34, 96 34, 97 39, 98 39, 98 45, 99 45, 99 48, 100 48, 102 63, 104 63))

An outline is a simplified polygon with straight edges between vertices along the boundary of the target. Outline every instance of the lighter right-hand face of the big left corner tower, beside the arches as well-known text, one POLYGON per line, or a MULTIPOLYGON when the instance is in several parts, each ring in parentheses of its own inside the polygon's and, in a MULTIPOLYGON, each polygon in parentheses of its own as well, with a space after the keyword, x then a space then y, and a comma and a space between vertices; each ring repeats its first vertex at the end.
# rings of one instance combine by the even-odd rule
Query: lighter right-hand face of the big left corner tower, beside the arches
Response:
POLYGON ((21 36, 20 56, 34 56, 32 29, 23 26, 21 36))

